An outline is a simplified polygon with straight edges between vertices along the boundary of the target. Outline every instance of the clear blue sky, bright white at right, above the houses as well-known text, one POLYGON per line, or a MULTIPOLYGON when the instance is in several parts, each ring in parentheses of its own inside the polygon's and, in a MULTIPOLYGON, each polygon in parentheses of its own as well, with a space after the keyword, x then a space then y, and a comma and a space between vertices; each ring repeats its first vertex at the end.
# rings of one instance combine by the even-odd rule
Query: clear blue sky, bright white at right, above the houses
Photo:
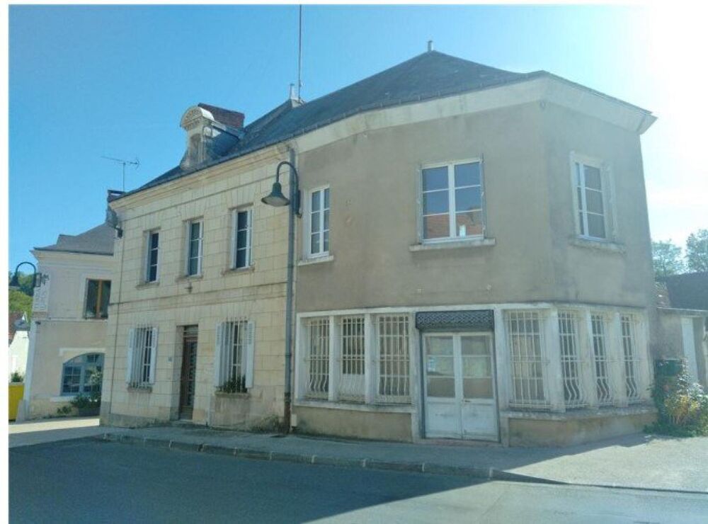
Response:
MULTIPOLYGON (((11 6, 10 265, 103 221, 105 190, 181 158, 183 111, 246 123, 297 78, 297 6, 11 6)), ((652 110, 644 169, 655 239, 708 227, 701 158, 708 48, 696 13, 618 6, 305 6, 302 96, 312 100, 435 49, 564 76, 652 110)))

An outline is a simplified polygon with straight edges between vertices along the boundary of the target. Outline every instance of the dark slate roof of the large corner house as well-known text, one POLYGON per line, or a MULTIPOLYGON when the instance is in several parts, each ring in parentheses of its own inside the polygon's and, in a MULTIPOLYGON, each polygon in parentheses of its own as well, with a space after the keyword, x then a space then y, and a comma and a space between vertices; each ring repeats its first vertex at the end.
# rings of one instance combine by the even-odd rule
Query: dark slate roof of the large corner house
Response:
MULTIPOLYGON (((188 169, 177 166, 125 195, 159 186, 205 167, 255 152, 358 113, 526 81, 539 76, 554 75, 545 71, 514 73, 438 51, 428 51, 355 84, 316 98, 314 101, 307 103, 286 101, 244 127, 244 135, 236 146, 219 159, 188 169)), ((602 93, 598 94, 605 96, 602 93)), ((631 104, 627 105, 631 106, 631 104)), ((210 107, 205 104, 200 106, 207 109, 210 107)))

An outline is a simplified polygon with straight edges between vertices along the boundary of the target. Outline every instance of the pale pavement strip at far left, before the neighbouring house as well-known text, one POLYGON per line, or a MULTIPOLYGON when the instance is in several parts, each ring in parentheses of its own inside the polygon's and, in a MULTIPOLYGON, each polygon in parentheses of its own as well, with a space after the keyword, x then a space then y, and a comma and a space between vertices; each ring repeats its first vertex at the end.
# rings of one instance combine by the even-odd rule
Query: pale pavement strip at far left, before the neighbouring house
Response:
POLYGON ((105 433, 105 429, 98 426, 98 417, 51 418, 40 421, 14 422, 10 424, 9 428, 10 448, 91 437, 105 433))

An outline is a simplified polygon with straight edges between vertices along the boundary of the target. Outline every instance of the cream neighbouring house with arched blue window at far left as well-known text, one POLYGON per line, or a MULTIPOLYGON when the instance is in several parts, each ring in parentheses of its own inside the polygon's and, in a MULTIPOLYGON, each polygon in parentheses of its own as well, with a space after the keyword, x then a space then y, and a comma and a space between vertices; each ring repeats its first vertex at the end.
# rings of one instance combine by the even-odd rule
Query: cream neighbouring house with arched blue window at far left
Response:
POLYGON ((93 375, 103 370, 114 237, 104 222, 33 249, 40 285, 18 420, 56 415, 76 395, 100 392, 93 375))

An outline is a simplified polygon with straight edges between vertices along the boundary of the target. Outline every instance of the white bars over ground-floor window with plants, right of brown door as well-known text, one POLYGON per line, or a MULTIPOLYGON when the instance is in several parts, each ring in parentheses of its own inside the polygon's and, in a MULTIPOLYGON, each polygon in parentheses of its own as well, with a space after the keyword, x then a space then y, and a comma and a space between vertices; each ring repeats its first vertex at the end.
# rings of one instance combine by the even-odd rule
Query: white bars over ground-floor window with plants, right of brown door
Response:
POLYGON ((217 326, 217 388, 225 393, 245 393, 249 387, 246 370, 252 351, 252 327, 246 319, 217 326))

